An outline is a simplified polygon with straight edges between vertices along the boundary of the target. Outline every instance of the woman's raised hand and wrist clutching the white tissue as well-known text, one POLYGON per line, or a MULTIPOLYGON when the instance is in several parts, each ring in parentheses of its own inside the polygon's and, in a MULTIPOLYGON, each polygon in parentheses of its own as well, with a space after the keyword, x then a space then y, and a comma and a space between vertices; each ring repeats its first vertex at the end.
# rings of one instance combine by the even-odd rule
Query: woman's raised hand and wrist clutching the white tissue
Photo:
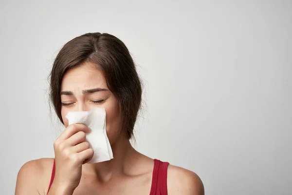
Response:
POLYGON ((73 194, 79 185, 82 164, 93 156, 93 150, 85 137, 85 133, 90 131, 84 124, 72 124, 55 140, 55 178, 49 195, 73 194))

